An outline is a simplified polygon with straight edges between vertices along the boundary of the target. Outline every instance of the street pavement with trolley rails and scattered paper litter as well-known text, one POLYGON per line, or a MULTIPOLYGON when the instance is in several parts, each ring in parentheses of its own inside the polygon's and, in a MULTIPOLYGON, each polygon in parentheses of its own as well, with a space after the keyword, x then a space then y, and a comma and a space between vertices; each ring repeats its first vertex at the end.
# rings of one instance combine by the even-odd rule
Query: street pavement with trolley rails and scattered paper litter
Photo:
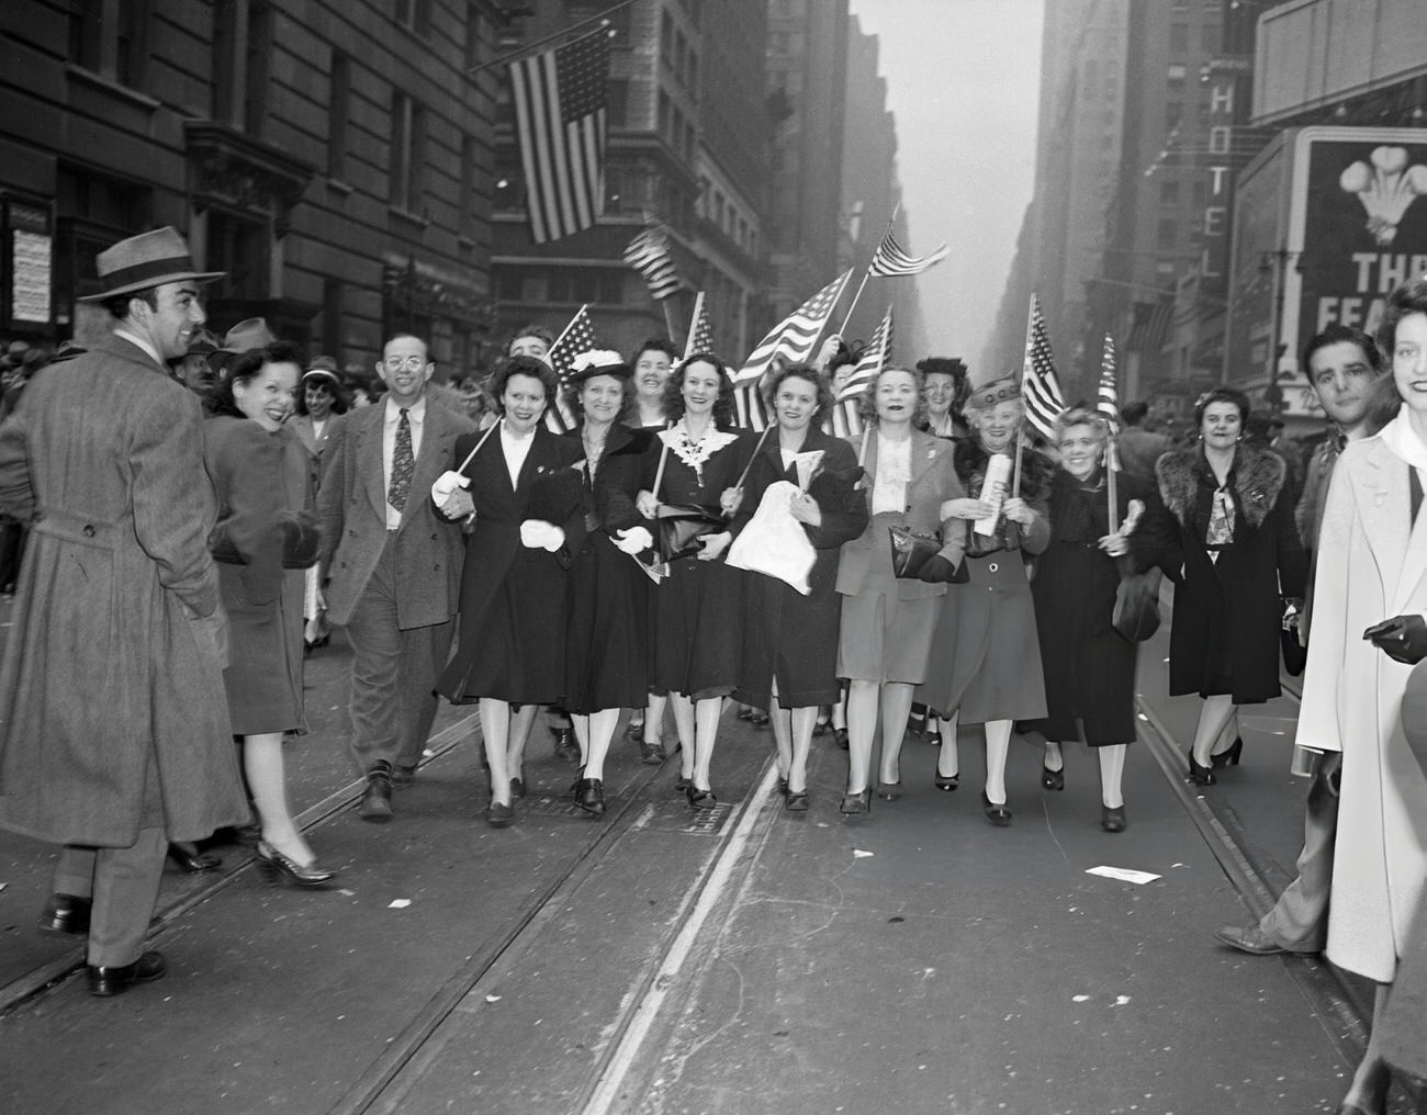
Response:
POLYGON ((1293 874, 1296 703, 1244 710, 1243 764, 1196 788, 1197 700, 1163 696, 1164 653, 1162 632, 1142 654, 1123 834, 1099 830, 1093 753, 1067 746, 1046 793, 1019 740, 1015 821, 989 826, 975 730, 956 793, 912 739, 903 796, 865 818, 838 814, 845 754, 819 737, 788 814, 768 730, 731 713, 712 816, 622 741, 609 814, 578 814, 538 727, 497 831, 469 707, 442 709, 391 824, 355 817, 335 639, 288 751, 332 887, 264 885, 233 847, 217 877, 170 871, 168 975, 94 1000, 78 945, 33 931, 53 850, 0 834, 0 1109, 1331 1112, 1366 990, 1213 938, 1293 874))

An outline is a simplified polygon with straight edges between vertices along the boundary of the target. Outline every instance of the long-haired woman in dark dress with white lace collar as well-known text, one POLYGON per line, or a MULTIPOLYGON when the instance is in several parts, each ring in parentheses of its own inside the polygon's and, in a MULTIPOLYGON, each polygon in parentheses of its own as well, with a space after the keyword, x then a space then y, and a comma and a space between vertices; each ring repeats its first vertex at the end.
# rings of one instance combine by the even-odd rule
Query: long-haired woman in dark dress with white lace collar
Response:
MULTIPOLYGON (((711 522, 726 520, 739 506, 749 449, 732 429, 728 368, 711 352, 695 352, 669 376, 664 398, 672 425, 645 452, 636 510, 656 520, 661 505, 681 505, 704 509, 711 522)), ((718 804, 709 767, 743 649, 742 573, 722 560, 732 540, 726 528, 704 533, 698 552, 671 560, 654 592, 652 683, 669 693, 679 731, 678 788, 695 808, 718 804)))

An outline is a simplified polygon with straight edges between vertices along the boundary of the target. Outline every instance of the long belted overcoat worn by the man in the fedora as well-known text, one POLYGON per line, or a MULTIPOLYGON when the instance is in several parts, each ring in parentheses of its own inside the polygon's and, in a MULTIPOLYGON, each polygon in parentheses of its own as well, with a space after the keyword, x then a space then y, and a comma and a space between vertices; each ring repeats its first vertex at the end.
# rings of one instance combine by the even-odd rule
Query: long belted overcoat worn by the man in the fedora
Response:
POLYGON ((121 847, 247 820, 200 423, 195 395, 110 336, 0 426, 0 512, 31 520, 0 660, 0 827, 121 847))

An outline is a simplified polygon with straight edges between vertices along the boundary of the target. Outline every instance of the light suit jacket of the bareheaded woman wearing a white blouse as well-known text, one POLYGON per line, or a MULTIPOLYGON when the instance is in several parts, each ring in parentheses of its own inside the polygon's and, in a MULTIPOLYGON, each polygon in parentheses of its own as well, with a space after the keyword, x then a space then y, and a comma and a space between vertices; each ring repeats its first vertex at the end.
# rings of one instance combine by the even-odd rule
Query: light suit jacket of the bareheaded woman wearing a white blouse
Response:
MULTIPOLYGON (((848 438, 855 453, 860 453, 862 442, 862 436, 848 438)), ((873 426, 866 438, 868 451, 862 461, 862 466, 868 472, 863 481, 869 516, 868 529, 842 548, 842 563, 838 566, 838 592, 843 596, 855 596, 862 590, 868 572, 872 569, 873 548, 890 552, 892 546, 886 522, 878 522, 876 516, 872 515, 872 489, 876 486, 878 478, 879 445, 880 438, 873 426)), ((966 552, 963 532, 959 529, 958 520, 946 519, 943 522, 940 519, 945 500, 966 495, 956 476, 955 453, 955 442, 933 438, 919 429, 912 431, 912 482, 906 486, 906 506, 900 525, 925 535, 940 530, 945 540, 942 556, 953 566, 959 566, 966 552)), ((902 600, 920 600, 945 593, 946 585, 928 585, 922 580, 898 582, 898 597, 902 600)))

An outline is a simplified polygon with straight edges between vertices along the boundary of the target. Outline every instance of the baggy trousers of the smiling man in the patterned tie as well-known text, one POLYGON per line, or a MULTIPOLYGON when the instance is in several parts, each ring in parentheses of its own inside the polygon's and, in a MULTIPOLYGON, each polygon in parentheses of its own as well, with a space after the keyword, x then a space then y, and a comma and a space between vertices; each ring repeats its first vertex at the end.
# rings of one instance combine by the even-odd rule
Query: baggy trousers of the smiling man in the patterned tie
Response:
POLYGON ((395 533, 387 535, 351 619, 351 753, 360 774, 378 760, 414 769, 437 716, 437 676, 451 652, 451 622, 398 626, 395 533))

